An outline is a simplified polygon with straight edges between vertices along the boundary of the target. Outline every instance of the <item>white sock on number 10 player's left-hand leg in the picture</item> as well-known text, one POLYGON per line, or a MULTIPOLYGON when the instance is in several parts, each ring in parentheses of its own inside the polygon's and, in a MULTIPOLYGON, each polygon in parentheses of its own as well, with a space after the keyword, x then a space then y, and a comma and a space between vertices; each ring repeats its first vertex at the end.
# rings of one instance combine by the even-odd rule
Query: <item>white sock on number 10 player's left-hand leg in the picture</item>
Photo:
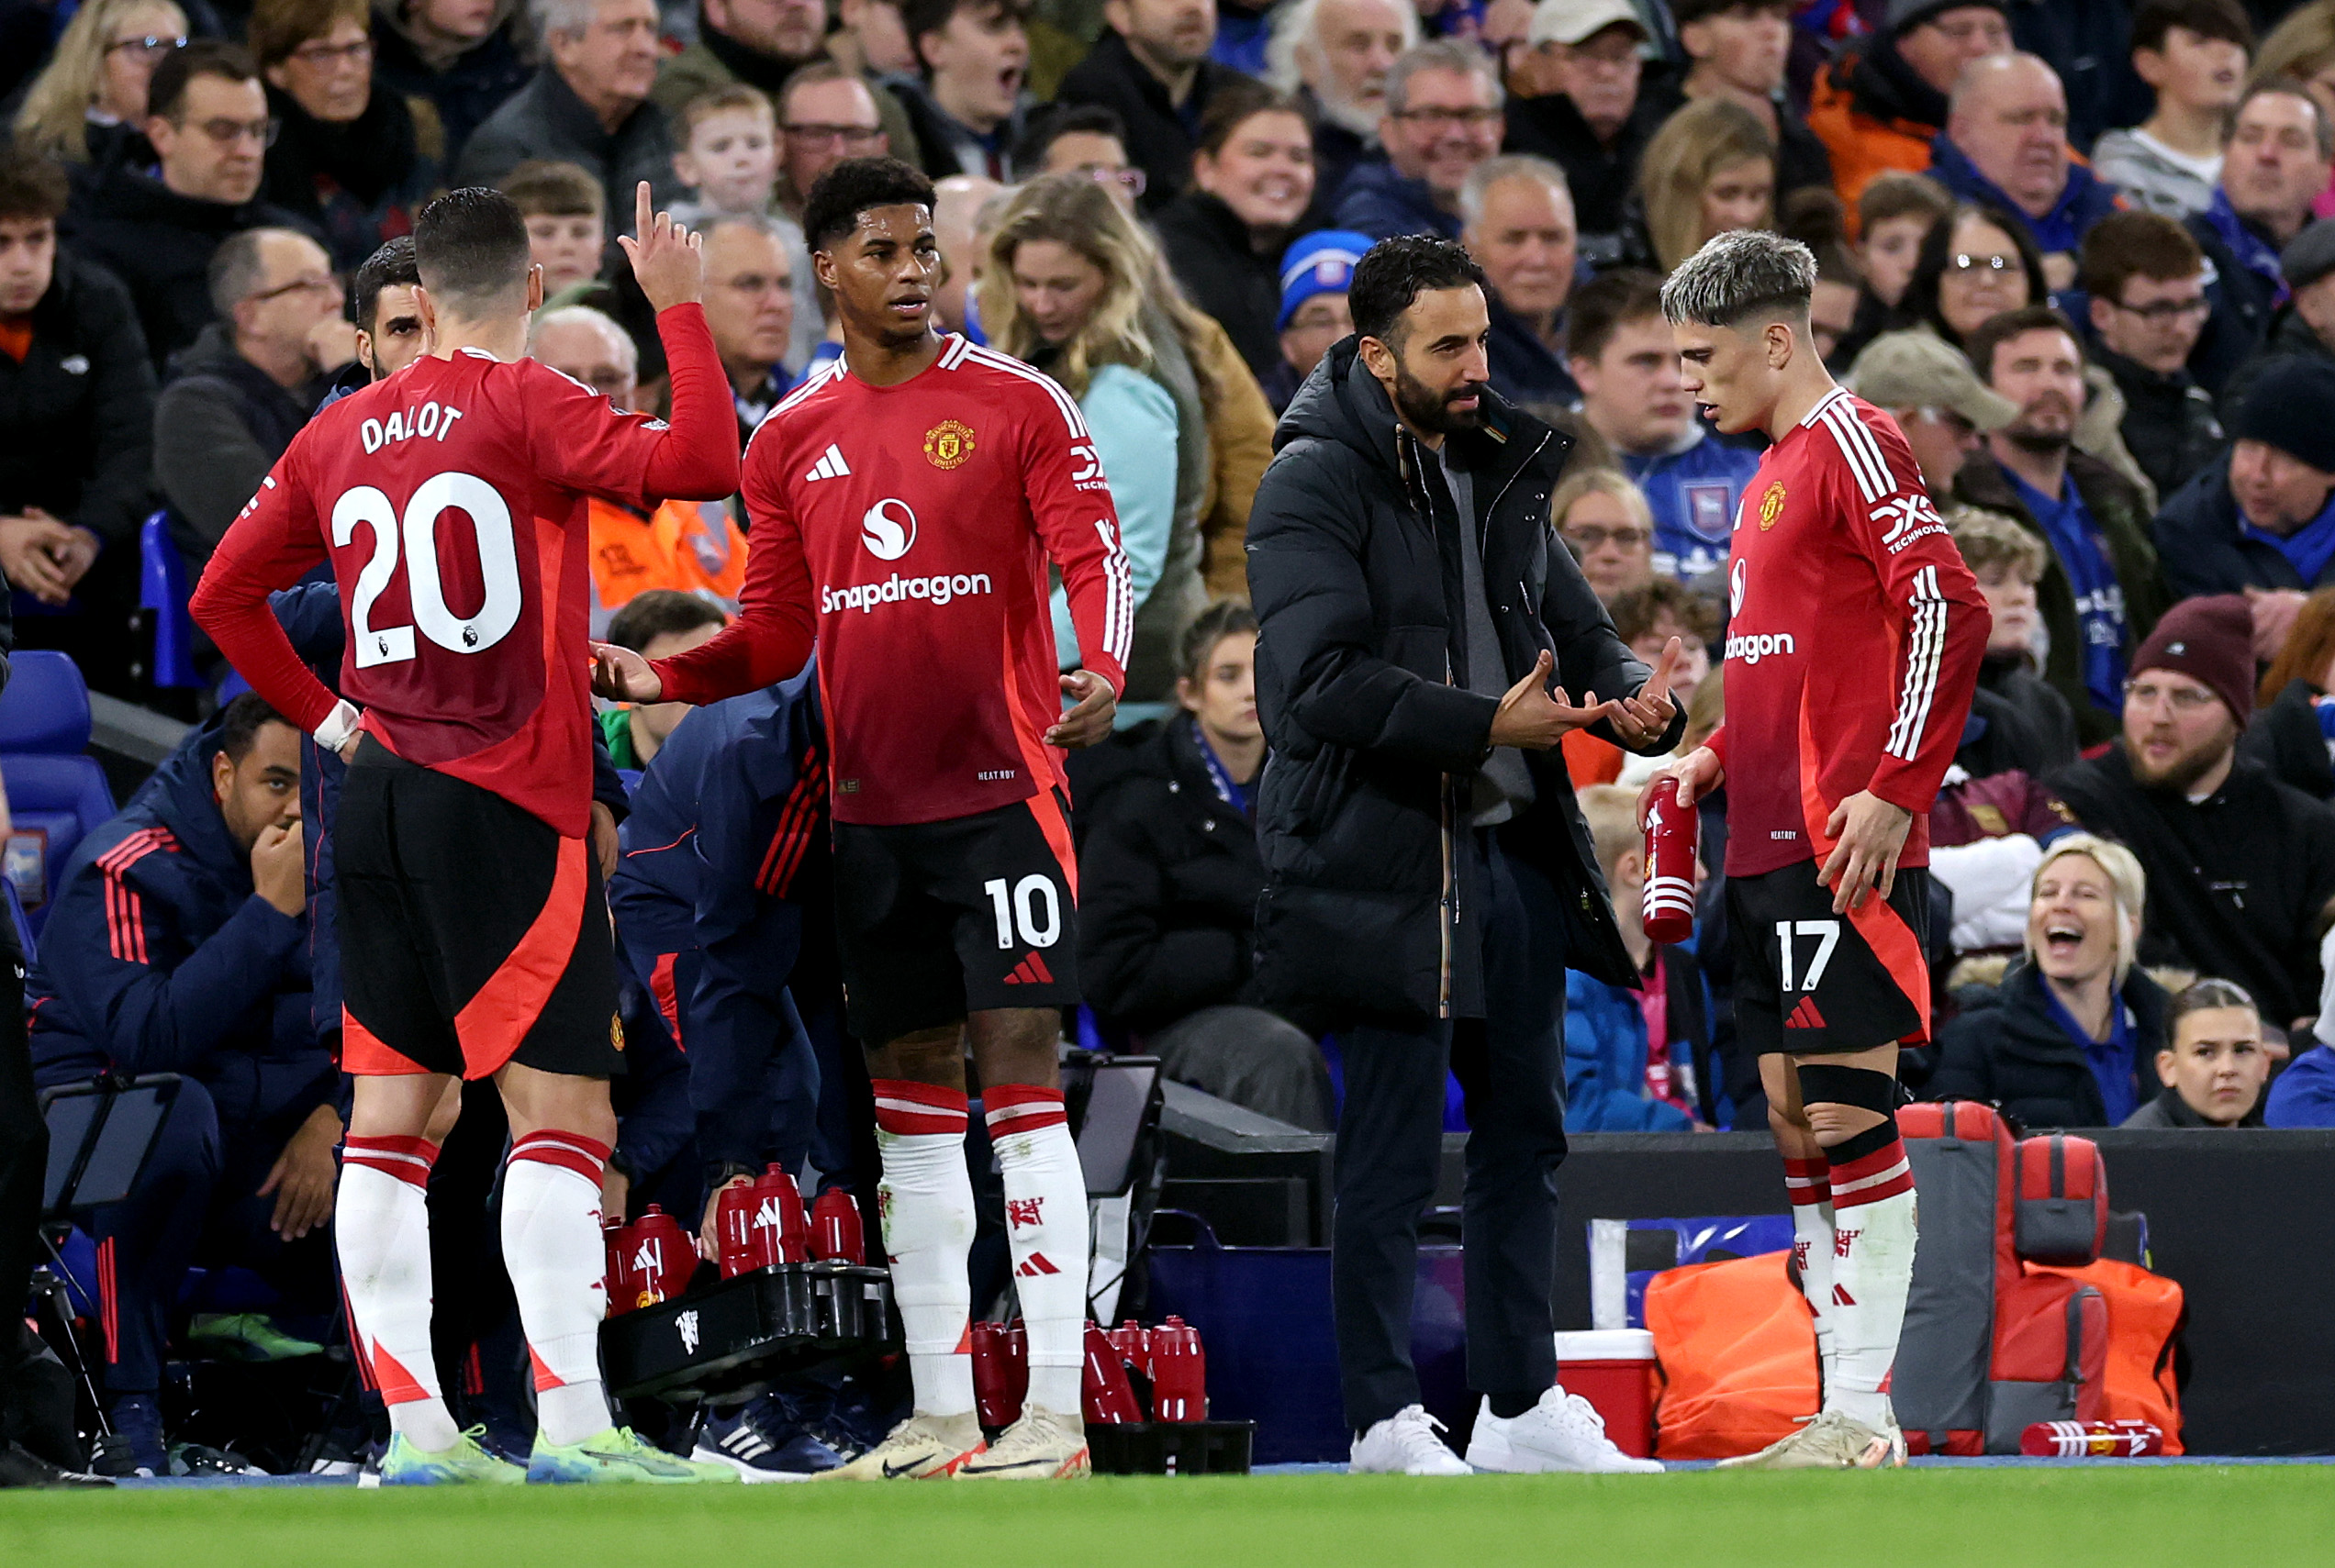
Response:
POLYGON ((964 1092, 876 1080, 883 1251, 908 1339, 908 1379, 927 1416, 974 1409, 974 1178, 964 1169, 964 1092))

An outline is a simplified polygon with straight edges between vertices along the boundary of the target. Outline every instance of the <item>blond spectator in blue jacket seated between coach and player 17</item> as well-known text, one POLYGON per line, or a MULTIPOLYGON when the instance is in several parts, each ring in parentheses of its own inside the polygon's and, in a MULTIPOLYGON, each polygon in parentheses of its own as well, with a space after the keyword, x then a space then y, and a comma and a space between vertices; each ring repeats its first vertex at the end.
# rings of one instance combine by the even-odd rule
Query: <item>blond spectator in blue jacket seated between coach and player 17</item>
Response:
POLYGON ((1613 922, 1644 989, 1564 975, 1564 1132, 1726 1127, 1719 1003, 1693 943, 1653 943, 1642 919, 1646 842, 1637 791, 1592 784, 1581 814, 1613 894, 1613 922), (1660 1036, 1658 1048, 1653 1048, 1660 1036))

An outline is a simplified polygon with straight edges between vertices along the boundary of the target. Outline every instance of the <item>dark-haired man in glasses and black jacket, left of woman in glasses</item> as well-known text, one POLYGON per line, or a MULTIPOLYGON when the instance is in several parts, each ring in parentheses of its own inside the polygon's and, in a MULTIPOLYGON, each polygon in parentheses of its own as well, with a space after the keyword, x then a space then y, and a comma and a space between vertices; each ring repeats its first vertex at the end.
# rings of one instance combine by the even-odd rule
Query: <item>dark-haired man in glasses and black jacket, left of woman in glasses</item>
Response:
POLYGON ((140 173, 128 156, 96 168, 75 187, 63 238, 128 285, 161 366, 212 320, 210 257, 226 236, 306 224, 259 196, 276 121, 259 68, 241 47, 201 40, 168 54, 147 107, 145 138, 159 168, 140 173))

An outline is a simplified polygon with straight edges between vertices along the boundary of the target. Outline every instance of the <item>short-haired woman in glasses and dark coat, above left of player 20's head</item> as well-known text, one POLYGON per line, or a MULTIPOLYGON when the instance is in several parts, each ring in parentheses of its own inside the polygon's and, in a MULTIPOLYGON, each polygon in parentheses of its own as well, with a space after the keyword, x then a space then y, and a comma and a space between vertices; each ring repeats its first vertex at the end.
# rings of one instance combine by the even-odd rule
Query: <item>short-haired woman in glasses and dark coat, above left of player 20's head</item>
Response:
POLYGON ((262 191, 320 229, 341 268, 411 229, 437 184, 413 110, 374 75, 371 28, 367 0, 259 0, 250 21, 278 124, 262 191))

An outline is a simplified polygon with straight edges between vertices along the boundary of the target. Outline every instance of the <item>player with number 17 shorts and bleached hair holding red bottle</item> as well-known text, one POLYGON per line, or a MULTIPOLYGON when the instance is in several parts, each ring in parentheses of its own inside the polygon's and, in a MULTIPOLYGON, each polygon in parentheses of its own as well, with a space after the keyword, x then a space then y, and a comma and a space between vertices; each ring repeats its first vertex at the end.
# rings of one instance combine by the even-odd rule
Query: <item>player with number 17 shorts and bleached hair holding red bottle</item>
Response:
POLYGON ((1905 1463, 1889 1407, 1912 1281, 1898 1045, 1929 1038, 1929 807, 1978 686, 1987 604, 1896 422, 1833 385, 1810 338, 1817 264, 1744 229, 1663 285, 1686 390, 1761 429, 1728 555, 1726 726, 1665 770, 1728 786, 1735 1017, 1784 1155, 1824 1412, 1744 1456, 1772 1470, 1905 1463))

